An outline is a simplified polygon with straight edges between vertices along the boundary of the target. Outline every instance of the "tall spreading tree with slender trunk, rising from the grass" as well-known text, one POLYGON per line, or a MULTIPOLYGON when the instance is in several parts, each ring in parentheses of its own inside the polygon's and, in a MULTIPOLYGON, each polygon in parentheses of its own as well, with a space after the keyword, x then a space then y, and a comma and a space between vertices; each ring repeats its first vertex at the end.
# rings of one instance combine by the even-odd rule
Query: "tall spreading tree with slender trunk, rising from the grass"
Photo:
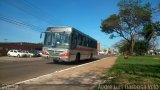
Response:
POLYGON ((110 38, 122 37, 133 54, 135 41, 140 38, 143 27, 152 22, 153 9, 150 3, 143 4, 140 0, 121 0, 118 14, 113 14, 101 23, 101 31, 110 38))

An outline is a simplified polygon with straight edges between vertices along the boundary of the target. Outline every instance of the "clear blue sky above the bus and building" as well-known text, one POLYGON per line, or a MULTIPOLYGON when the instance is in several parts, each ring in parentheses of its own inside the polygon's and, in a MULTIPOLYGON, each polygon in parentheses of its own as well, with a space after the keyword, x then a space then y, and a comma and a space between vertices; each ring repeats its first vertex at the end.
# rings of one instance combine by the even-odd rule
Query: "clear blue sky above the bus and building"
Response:
MULTIPOLYGON (((150 0, 153 4, 159 0, 150 0)), ((111 47, 121 38, 109 39, 100 30, 101 21, 118 13, 119 0, 0 0, 0 42, 43 42, 40 32, 48 26, 72 26, 90 35, 102 47, 111 47), (25 23, 25 25, 17 22, 25 23), (14 22, 14 24, 13 24, 14 22), (16 23, 16 24, 15 24, 16 23), (27 27, 34 25, 39 29, 27 27)))

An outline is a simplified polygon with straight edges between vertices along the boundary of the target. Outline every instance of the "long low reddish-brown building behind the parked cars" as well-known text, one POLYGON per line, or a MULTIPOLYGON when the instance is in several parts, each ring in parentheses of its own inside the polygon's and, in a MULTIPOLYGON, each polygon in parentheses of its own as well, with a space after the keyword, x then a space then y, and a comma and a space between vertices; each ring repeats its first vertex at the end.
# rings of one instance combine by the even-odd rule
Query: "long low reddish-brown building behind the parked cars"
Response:
POLYGON ((0 42, 0 56, 7 55, 11 49, 17 50, 42 50, 42 44, 27 43, 27 42, 0 42))

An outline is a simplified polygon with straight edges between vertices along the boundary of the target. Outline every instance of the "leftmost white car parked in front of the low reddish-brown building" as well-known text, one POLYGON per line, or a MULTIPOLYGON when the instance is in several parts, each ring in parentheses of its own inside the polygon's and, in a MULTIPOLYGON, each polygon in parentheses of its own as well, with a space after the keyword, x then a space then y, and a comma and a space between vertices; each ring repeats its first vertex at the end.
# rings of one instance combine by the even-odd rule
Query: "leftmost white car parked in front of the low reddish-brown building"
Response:
POLYGON ((8 56, 14 56, 14 57, 24 57, 24 56, 26 56, 26 54, 23 53, 20 50, 9 50, 7 55, 8 56))

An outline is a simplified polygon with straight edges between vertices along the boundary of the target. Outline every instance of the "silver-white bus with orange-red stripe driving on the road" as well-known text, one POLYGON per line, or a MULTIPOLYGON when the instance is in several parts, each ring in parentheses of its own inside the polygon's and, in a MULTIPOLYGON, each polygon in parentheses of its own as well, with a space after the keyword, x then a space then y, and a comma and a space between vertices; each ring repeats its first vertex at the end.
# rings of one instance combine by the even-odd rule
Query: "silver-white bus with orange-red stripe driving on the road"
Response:
POLYGON ((97 56, 97 41, 73 27, 48 27, 42 56, 54 62, 71 62, 97 56))

